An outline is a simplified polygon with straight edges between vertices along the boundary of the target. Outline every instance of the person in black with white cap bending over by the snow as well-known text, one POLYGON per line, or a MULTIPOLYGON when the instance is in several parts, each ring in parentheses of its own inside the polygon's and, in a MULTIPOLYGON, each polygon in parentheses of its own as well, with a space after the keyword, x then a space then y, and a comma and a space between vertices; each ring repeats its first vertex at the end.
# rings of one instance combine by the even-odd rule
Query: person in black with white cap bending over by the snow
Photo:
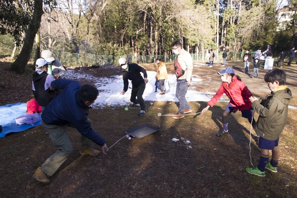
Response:
POLYGON ((141 110, 138 115, 144 115, 147 112, 145 101, 143 99, 143 94, 146 89, 146 84, 148 83, 148 74, 147 71, 139 66, 138 64, 128 64, 126 58, 122 57, 119 59, 120 67, 123 69, 123 81, 124 89, 120 95, 124 95, 128 90, 129 81, 132 81, 132 92, 131 92, 131 103, 129 106, 137 104, 136 97, 140 104, 141 110), (141 76, 140 72, 144 74, 145 79, 141 76))

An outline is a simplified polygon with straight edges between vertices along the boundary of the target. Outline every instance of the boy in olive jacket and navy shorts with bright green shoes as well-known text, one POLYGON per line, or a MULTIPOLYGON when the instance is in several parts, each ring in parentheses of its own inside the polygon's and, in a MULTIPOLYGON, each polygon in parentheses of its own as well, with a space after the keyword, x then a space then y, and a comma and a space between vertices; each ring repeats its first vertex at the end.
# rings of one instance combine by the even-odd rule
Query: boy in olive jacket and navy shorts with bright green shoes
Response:
POLYGON ((265 169, 277 172, 277 164, 280 157, 278 147, 279 136, 282 133, 288 119, 288 104, 292 99, 291 90, 285 85, 286 73, 281 69, 272 69, 264 76, 271 94, 262 101, 250 97, 252 108, 259 113, 259 118, 254 125, 254 130, 260 135, 258 147, 261 155, 258 166, 246 168, 247 172, 260 177, 265 177, 265 169), (269 150, 272 150, 272 158, 269 161, 269 150))

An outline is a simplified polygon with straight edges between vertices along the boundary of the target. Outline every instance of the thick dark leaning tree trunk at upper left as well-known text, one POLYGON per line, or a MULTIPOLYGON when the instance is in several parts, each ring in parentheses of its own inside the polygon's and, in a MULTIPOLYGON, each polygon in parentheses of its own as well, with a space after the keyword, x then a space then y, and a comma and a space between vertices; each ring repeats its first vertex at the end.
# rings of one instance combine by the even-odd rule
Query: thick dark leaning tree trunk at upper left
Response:
POLYGON ((10 70, 15 71, 16 73, 24 73, 25 67, 30 60, 34 38, 40 27, 41 16, 44 13, 42 5, 43 0, 34 0, 34 11, 26 33, 24 45, 20 54, 10 66, 10 70))

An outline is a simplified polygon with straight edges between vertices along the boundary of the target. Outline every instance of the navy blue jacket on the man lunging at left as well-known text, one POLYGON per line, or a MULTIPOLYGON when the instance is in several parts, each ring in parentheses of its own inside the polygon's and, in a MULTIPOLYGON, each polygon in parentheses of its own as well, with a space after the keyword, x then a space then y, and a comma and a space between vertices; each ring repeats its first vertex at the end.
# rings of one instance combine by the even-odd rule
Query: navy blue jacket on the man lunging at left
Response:
POLYGON ((78 90, 81 84, 67 79, 56 79, 50 83, 54 89, 63 90, 62 93, 51 100, 42 112, 42 120, 46 124, 66 125, 72 124, 78 132, 100 147, 105 144, 91 127, 88 120, 89 106, 78 99, 78 90))

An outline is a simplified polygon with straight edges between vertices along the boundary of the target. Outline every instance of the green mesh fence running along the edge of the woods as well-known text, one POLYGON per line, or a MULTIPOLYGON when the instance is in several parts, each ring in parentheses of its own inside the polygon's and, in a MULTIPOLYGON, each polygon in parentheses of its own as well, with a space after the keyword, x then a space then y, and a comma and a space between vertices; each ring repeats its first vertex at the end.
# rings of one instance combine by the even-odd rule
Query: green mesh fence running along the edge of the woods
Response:
MULTIPOLYGON (((11 37, 0 37, 0 55, 11 55, 14 48, 13 38, 11 37)), ((33 46, 35 49, 35 44, 33 46)), ((42 50, 49 49, 45 46, 41 47, 42 50)), ((113 56, 113 55, 99 55, 99 54, 90 54, 90 53, 68 53, 64 51, 60 51, 57 49, 50 49, 54 57, 60 60, 60 62, 66 67, 77 67, 77 66, 91 66, 91 65, 118 65, 118 60, 123 56, 113 56)), ((20 49, 16 50, 16 56, 19 54, 20 49)), ((234 61, 234 60, 243 60, 245 52, 228 52, 228 56, 226 61, 234 61)), ((30 60, 34 60, 35 50, 32 50, 30 60)), ((207 62, 206 53, 194 53, 191 54, 194 62, 207 62)), ((254 52, 251 52, 253 57, 254 52)), ((132 56, 132 62, 136 62, 138 64, 142 63, 153 63, 156 58, 160 58, 163 62, 173 62, 177 59, 177 55, 175 54, 166 54, 166 55, 140 55, 140 56, 132 56)), ((296 61, 296 60, 293 60, 296 61)), ((214 62, 223 62, 222 53, 215 53, 214 62)))

